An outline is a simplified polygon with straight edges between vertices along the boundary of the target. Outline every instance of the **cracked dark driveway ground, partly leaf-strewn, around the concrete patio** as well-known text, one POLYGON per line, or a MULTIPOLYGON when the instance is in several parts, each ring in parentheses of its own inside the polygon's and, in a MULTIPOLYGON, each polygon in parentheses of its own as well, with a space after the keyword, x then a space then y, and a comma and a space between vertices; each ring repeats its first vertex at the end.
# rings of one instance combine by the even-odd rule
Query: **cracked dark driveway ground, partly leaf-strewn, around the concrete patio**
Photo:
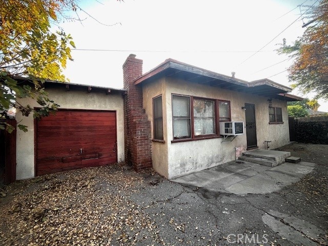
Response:
POLYGON ((328 245, 328 145, 279 150, 318 165, 267 195, 211 194, 119 165, 16 181, 0 188, 0 245, 231 245, 232 231, 264 232, 265 245, 300 245, 265 226, 269 208, 315 224, 325 235, 312 242, 328 245))

